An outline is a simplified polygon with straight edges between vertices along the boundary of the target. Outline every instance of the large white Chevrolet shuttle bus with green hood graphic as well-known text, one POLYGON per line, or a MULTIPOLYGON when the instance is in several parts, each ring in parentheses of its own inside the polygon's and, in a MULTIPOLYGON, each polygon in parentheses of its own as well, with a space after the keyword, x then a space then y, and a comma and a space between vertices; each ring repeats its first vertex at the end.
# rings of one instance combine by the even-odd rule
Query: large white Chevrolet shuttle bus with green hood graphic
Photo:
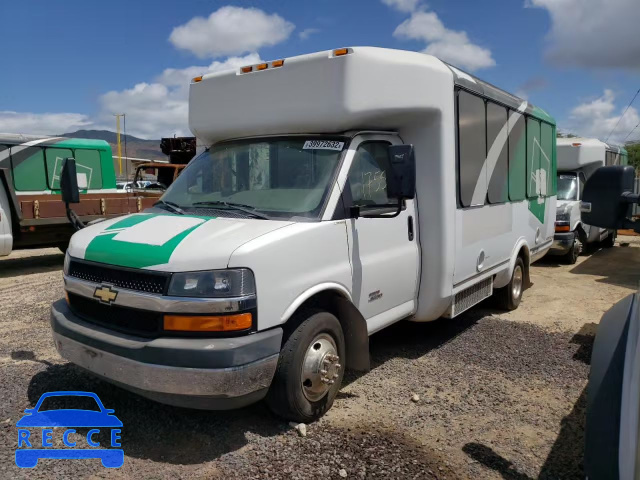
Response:
POLYGON ((553 241, 553 119, 428 55, 210 73, 189 123, 210 147, 155 208, 73 236, 51 315, 64 358, 160 402, 318 418, 369 335, 516 308, 553 241))

